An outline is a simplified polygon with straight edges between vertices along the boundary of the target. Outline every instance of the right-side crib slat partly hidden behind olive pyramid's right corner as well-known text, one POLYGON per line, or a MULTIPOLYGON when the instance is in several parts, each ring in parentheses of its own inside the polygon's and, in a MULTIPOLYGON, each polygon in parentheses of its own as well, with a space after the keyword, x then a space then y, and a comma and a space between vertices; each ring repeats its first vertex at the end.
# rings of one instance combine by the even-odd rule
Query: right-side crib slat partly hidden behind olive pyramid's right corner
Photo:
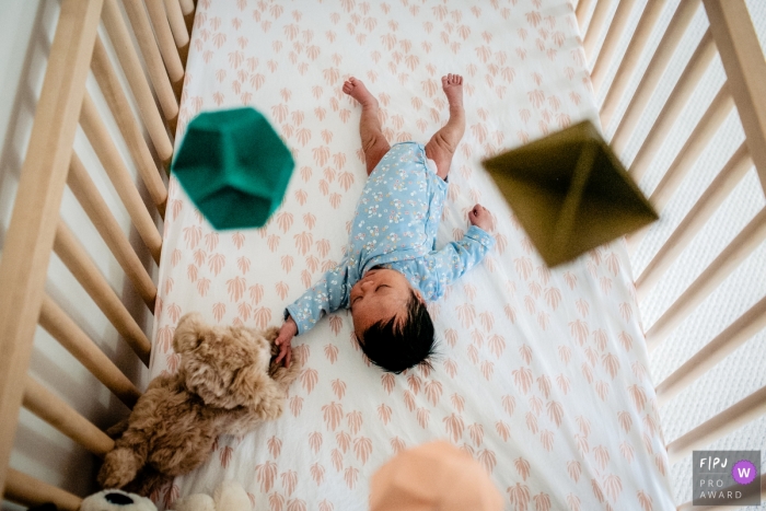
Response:
MULTIPOLYGON (((662 209, 668 205, 668 201, 673 196, 681 182, 686 176, 686 173, 692 169, 692 166, 699 159, 699 155, 708 147, 708 143, 712 140, 712 137, 718 132, 723 121, 727 119, 732 108, 734 107, 734 101, 729 92, 728 84, 724 83, 716 97, 713 97, 712 103, 699 119, 699 123, 689 135, 689 138, 681 148, 678 154, 673 160, 673 163, 665 171, 665 175, 652 191, 649 197, 649 201, 654 206, 657 211, 662 212, 662 209)), ((634 253, 638 245, 641 243, 643 237, 649 232, 650 228, 643 228, 638 231, 632 232, 628 236, 628 251, 634 253)))

